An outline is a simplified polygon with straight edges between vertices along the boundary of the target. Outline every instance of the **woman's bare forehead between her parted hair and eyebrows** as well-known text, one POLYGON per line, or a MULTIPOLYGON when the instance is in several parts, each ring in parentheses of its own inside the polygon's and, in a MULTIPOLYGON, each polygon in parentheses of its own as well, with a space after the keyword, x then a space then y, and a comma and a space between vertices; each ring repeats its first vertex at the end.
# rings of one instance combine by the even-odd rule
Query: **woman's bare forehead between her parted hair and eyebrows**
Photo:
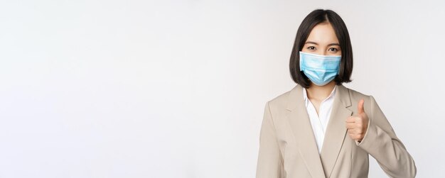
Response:
POLYGON ((338 43, 336 31, 333 29, 331 23, 319 23, 314 26, 309 33, 306 41, 315 42, 318 44, 338 43))

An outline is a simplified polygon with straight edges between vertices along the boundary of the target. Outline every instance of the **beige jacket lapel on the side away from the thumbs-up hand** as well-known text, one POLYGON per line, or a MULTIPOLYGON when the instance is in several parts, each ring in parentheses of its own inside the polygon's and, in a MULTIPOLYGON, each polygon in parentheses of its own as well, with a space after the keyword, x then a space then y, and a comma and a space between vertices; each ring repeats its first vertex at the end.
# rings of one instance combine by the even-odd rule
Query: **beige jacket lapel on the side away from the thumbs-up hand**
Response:
POLYGON ((309 170, 311 177, 326 177, 321 165, 320 155, 316 145, 315 137, 309 115, 304 104, 303 89, 296 85, 289 94, 289 101, 286 107, 290 111, 288 121, 294 133, 299 153, 303 157, 304 164, 309 170))

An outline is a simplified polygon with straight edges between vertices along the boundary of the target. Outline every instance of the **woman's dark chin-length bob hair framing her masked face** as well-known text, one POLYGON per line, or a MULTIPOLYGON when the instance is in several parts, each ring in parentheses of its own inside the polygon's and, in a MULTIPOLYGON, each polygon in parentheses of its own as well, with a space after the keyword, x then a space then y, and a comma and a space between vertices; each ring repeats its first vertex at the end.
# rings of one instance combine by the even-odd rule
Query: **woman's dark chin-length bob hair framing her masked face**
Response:
POLYGON ((345 22, 343 22, 341 17, 334 11, 316 9, 309 13, 301 22, 296 32, 294 48, 292 48, 291 60, 289 62, 292 79, 295 83, 300 84, 301 87, 306 89, 309 88, 311 81, 300 71, 299 51, 303 49, 304 43, 306 43, 313 27, 319 23, 331 23, 331 26, 336 31, 338 42, 340 43, 341 62, 339 74, 334 79, 336 84, 340 85, 343 82, 351 82, 350 75, 353 72, 353 48, 350 44, 348 28, 346 28, 345 22))

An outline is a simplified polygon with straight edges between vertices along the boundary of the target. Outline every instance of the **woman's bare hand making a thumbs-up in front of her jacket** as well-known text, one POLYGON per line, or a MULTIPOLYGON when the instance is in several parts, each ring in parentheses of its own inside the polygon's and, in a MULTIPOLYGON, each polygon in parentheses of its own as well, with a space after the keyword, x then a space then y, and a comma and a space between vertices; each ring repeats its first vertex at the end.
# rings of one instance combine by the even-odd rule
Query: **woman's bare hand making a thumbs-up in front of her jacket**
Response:
POLYGON ((363 140, 368 129, 369 118, 365 113, 365 109, 363 109, 363 104, 365 104, 365 100, 360 99, 358 101, 358 113, 346 119, 346 128, 348 128, 350 138, 358 142, 363 140))

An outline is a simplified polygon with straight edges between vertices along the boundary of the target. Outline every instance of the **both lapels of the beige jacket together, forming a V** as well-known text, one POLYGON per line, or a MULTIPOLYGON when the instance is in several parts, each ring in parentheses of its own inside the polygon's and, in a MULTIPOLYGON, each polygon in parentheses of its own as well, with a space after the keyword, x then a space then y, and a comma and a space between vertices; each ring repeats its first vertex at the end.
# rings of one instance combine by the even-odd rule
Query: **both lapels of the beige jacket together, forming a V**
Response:
POLYGON ((343 85, 337 85, 331 118, 326 128, 321 154, 318 154, 311 121, 304 104, 303 88, 297 84, 291 90, 286 107, 286 110, 290 112, 287 119, 294 133, 299 153, 311 177, 330 177, 345 139, 347 131, 345 119, 352 114, 352 111, 348 109, 350 106, 348 89, 343 85))

